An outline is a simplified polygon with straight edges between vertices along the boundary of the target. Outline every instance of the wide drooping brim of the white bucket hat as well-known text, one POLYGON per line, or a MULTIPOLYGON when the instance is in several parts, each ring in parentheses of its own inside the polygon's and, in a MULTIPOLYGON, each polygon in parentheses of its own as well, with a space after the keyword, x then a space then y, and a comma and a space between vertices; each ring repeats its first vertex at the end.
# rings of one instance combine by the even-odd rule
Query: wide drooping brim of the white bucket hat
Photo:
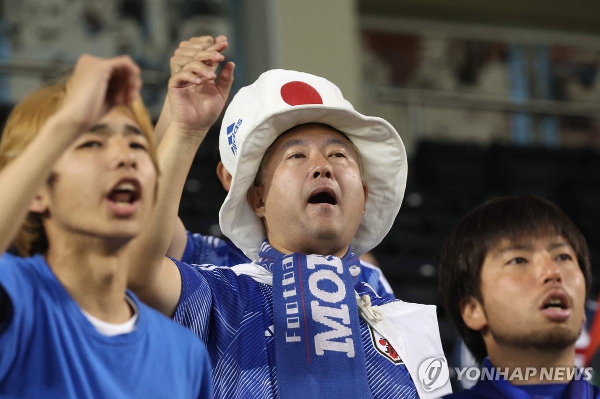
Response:
POLYGON ((365 214, 351 242, 360 256, 383 240, 394 223, 406 189, 407 159, 400 135, 386 120, 364 116, 350 108, 296 105, 269 114, 254 123, 238 143, 238 154, 229 193, 221 206, 223 234, 250 259, 256 259, 266 238, 265 225, 247 201, 260 162, 279 135, 304 123, 323 123, 349 138, 361 156, 368 188, 365 214))

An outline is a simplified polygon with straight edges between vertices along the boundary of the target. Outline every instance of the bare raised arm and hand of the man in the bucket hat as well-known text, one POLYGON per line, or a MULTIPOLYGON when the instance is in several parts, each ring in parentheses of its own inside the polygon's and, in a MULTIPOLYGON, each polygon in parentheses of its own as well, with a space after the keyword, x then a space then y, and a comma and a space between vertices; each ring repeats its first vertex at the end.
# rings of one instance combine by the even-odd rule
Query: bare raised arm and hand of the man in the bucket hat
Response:
MULTIPOLYGON (((211 50, 214 51, 214 50, 211 50)), ((206 58, 214 56, 211 51, 206 58)), ((164 258, 178 221, 185 179, 200 143, 220 115, 233 83, 232 62, 224 65, 218 80, 207 80, 207 69, 217 65, 196 59, 169 80, 170 123, 158 146, 160 179, 157 202, 142 236, 132 243, 129 286, 150 306, 172 315, 181 294, 181 276, 164 258)))

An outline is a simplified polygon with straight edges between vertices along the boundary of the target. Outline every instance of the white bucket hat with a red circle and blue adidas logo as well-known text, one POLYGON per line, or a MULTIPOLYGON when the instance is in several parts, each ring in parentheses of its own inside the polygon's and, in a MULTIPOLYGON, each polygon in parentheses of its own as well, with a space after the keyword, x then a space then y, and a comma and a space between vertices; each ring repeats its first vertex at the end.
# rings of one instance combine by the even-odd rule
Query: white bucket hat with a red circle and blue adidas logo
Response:
POLYGON ((265 225, 246 197, 260 161, 281 133, 311 122, 346 134, 361 156, 368 200, 351 243, 356 255, 383 240, 400 210, 407 162, 404 144, 394 127, 379 117, 356 112, 340 89, 324 78, 273 69, 233 97, 219 136, 221 161, 233 176, 219 212, 221 231, 250 259, 258 257, 266 238, 265 225))

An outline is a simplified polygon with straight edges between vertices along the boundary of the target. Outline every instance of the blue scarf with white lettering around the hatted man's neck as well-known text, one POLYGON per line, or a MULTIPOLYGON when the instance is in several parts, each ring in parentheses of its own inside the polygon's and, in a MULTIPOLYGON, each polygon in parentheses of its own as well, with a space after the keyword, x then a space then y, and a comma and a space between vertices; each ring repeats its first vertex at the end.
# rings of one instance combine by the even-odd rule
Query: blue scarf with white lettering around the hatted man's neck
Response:
POLYGON ((258 262, 273 273, 278 397, 372 398, 350 274, 358 256, 285 255, 264 241, 258 262))

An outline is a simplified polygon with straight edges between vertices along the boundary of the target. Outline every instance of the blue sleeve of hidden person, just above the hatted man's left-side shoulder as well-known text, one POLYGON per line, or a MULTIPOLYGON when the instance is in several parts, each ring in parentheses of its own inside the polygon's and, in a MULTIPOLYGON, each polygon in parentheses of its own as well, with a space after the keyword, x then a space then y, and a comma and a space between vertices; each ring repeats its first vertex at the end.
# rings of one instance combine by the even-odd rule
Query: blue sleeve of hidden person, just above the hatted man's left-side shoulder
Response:
POLYGON ((187 244, 181 261, 193 265, 235 266, 248 259, 233 244, 212 235, 187 232, 187 244))

